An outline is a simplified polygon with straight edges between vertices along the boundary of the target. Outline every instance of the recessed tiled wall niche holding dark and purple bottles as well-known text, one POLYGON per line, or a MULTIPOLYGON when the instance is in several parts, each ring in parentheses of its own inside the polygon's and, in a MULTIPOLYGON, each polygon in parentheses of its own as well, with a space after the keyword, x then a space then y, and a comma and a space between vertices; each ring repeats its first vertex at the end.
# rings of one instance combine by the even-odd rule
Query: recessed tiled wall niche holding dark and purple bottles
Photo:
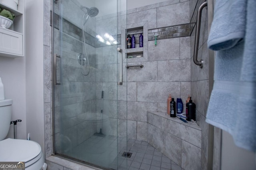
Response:
POLYGON ((126 28, 122 28, 122 49, 125 49, 123 51, 123 60, 125 62, 148 61, 148 22, 128 24, 126 28), (143 33, 143 47, 140 47, 139 44, 140 33, 143 33), (131 37, 134 34, 136 40, 135 48, 127 49, 126 38, 128 34, 131 37))

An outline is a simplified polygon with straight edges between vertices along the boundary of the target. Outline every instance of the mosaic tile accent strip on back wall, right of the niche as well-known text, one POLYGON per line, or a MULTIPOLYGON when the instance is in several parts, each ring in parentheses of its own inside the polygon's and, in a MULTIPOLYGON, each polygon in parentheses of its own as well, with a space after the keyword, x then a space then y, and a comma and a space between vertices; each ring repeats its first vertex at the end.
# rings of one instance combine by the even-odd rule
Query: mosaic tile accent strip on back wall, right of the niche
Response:
POLYGON ((190 24, 149 29, 148 41, 155 40, 154 35, 158 35, 157 40, 190 36, 190 24))

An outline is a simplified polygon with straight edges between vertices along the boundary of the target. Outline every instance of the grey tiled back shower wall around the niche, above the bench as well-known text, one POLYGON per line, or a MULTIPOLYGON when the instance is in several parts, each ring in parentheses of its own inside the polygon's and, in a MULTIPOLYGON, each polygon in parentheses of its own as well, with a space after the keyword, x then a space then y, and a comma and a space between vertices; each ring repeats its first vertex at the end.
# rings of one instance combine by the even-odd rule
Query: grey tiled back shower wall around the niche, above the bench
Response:
MULTIPOLYGON (((149 34, 163 27, 188 24, 190 2, 183 1, 169 0, 128 10, 127 24, 147 22, 149 34)), ((145 52, 146 61, 134 62, 133 58, 123 64, 124 83, 118 85, 118 103, 114 103, 118 104, 118 136, 125 136, 127 130, 128 138, 142 141, 147 141, 147 111, 166 112, 168 94, 175 100, 181 97, 184 104, 190 95, 190 37, 161 39, 157 45, 148 41, 145 52), (125 67, 137 64, 144 67, 125 67)))

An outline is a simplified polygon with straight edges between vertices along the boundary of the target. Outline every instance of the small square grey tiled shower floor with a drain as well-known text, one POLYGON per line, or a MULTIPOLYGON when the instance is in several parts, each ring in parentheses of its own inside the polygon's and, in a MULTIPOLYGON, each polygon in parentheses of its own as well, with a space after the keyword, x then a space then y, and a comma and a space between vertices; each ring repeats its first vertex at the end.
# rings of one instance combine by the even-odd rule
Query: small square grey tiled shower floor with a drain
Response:
POLYGON ((126 147, 126 138, 114 136, 91 136, 69 154, 79 160, 113 170, 182 170, 148 142, 128 139, 126 147), (130 152, 132 156, 126 160, 122 156, 123 152, 130 152))

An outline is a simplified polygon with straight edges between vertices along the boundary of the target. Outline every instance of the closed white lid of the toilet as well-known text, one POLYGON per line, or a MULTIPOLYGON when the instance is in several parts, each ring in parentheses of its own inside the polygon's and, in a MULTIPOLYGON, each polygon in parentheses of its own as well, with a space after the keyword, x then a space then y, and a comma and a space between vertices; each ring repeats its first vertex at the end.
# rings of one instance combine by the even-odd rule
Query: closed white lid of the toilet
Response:
POLYGON ((42 156, 41 146, 32 140, 5 139, 0 141, 0 162, 33 164, 42 156))

